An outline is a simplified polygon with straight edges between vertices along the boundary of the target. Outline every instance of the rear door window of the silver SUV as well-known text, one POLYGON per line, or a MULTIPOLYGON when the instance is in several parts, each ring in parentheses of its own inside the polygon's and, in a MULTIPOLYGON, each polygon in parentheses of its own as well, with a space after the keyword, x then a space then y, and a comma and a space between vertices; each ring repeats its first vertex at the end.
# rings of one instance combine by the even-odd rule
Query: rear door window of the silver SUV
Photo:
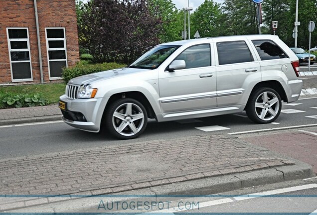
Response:
POLYGON ((251 52, 244 41, 218 42, 219 65, 253 61, 251 52))

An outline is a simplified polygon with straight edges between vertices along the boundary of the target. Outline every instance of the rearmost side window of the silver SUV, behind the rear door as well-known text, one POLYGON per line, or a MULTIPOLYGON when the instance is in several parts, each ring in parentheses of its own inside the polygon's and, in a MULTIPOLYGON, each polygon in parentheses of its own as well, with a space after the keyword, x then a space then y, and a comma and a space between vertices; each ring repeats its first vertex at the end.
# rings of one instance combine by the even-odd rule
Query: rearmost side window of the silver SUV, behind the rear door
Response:
POLYGON ((286 54, 271 40, 252 40, 261 60, 285 58, 286 54))

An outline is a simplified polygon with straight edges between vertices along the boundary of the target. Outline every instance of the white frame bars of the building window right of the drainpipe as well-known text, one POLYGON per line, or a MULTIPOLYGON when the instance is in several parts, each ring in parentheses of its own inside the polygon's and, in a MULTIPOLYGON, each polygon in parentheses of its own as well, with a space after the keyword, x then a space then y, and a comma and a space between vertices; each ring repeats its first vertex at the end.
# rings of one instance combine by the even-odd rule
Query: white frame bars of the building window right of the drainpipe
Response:
POLYGON ((51 77, 49 62, 66 61, 66 67, 68 67, 65 28, 64 27, 46 27, 45 28, 45 39, 46 39, 47 67, 48 67, 49 80, 60 80, 60 79, 63 79, 62 77, 51 77), (47 29, 63 29, 64 30, 64 38, 47 38, 47 29), (64 48, 49 48, 48 41, 57 41, 57 40, 63 40, 64 41, 64 48), (65 59, 50 60, 49 59, 49 55, 48 55, 48 51, 65 51, 65 59))

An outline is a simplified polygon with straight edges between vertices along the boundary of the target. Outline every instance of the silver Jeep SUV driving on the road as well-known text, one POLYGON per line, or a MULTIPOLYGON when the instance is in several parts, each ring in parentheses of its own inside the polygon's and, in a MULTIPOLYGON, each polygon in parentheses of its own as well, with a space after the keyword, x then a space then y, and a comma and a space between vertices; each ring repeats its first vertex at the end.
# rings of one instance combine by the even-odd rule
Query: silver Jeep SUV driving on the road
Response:
POLYGON ((60 97, 63 120, 76 128, 139 136, 158 122, 243 110, 270 123, 282 102, 298 100, 299 60, 273 35, 244 35, 164 43, 127 68, 74 78, 60 97))

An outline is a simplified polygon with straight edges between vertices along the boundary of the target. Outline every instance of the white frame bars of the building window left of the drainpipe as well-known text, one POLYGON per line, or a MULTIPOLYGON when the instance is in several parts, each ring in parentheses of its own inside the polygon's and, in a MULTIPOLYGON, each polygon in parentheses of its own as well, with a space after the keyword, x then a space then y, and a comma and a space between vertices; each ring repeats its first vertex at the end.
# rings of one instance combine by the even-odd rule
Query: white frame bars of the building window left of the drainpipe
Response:
POLYGON ((11 70, 11 81, 12 82, 25 82, 25 81, 33 81, 33 72, 32 72, 32 61, 31 61, 31 50, 30 50, 30 37, 28 34, 28 28, 27 27, 7 27, 6 28, 6 37, 7 37, 7 44, 8 44, 8 50, 9 50, 9 59, 10 59, 10 70, 11 70), (9 29, 26 29, 27 38, 25 39, 10 39, 9 38, 9 29), (11 41, 26 41, 27 42, 27 49, 11 49, 11 41), (27 61, 12 61, 11 60, 11 52, 15 51, 28 51, 30 59, 27 61), (29 63, 30 64, 30 72, 31 72, 31 78, 29 79, 13 79, 13 71, 12 71, 12 63, 29 63))

